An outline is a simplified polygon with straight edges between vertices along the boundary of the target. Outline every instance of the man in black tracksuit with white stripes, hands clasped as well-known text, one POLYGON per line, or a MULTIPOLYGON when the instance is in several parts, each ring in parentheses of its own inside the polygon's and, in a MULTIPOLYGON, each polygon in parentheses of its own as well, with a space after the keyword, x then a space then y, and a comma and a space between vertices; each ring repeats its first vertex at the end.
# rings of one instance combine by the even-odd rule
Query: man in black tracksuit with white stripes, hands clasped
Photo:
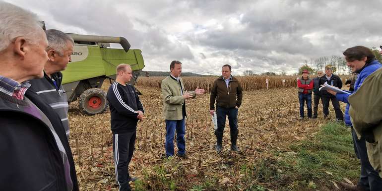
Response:
POLYGON ((107 93, 110 104, 111 128, 113 132, 114 165, 120 191, 131 191, 128 182, 133 180, 128 173, 132 158, 138 120, 143 120, 143 105, 130 81, 131 68, 128 64, 117 66, 117 79, 107 93))

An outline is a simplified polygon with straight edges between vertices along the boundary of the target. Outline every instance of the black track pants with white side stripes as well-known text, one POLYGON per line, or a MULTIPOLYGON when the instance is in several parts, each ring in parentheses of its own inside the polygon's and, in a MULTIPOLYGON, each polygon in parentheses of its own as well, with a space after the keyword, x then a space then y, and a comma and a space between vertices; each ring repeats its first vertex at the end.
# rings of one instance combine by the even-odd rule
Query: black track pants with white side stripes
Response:
POLYGON ((114 165, 120 191, 130 191, 128 164, 134 152, 135 137, 135 131, 113 135, 114 165))

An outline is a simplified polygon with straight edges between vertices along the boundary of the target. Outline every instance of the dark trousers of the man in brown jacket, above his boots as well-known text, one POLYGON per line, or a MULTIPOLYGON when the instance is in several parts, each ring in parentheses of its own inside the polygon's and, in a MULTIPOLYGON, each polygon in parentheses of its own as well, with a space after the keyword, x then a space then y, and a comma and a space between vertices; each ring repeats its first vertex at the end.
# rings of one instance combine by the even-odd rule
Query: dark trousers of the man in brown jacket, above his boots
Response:
POLYGON ((227 116, 232 136, 233 134, 238 133, 238 109, 216 106, 217 133, 223 134, 227 116))

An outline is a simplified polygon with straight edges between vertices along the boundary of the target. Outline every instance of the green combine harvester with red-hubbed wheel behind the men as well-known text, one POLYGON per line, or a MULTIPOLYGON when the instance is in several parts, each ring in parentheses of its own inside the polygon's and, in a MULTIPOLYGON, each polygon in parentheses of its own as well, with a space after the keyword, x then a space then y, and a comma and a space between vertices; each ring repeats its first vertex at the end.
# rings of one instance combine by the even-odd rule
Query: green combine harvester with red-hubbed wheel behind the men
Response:
POLYGON ((129 83, 134 85, 144 67, 141 50, 129 50, 130 44, 124 37, 67 34, 75 43, 71 63, 62 71, 67 101, 78 99, 82 114, 103 113, 109 103, 102 83, 106 78, 115 80, 117 65, 124 63, 131 66, 133 78, 129 83), (110 43, 121 44, 123 49, 108 48, 110 43))

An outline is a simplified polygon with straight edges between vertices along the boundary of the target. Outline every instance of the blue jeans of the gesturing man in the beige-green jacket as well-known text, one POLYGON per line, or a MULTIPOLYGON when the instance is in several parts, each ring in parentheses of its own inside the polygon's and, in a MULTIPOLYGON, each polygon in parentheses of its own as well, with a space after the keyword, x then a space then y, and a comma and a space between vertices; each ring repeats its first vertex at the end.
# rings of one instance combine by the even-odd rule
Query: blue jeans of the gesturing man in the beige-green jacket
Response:
POLYGON ((182 120, 166 120, 166 156, 174 156, 174 134, 177 131, 178 154, 186 154, 185 117, 182 120))

